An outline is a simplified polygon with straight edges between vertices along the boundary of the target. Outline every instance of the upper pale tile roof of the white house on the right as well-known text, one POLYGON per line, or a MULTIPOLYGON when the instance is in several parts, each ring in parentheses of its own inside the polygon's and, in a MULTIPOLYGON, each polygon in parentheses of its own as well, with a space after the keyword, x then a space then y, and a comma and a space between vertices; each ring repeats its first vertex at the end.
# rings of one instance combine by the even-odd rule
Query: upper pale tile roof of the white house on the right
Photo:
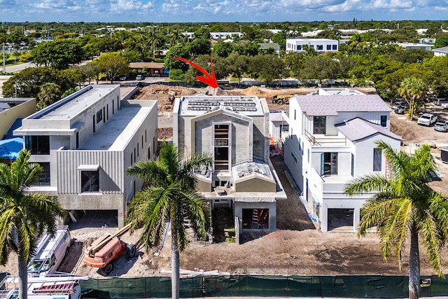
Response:
POLYGON ((391 111, 379 95, 296 95, 308 116, 337 116, 339 112, 391 111))

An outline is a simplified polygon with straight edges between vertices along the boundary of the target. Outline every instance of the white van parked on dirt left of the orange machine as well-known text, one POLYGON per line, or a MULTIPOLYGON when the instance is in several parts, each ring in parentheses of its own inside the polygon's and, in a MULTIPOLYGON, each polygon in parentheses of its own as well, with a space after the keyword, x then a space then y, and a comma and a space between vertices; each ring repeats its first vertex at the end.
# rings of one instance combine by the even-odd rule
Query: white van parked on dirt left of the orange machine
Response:
POLYGON ((55 237, 45 234, 38 242, 36 256, 28 263, 31 277, 53 274, 69 251, 71 235, 68 225, 59 225, 55 237))

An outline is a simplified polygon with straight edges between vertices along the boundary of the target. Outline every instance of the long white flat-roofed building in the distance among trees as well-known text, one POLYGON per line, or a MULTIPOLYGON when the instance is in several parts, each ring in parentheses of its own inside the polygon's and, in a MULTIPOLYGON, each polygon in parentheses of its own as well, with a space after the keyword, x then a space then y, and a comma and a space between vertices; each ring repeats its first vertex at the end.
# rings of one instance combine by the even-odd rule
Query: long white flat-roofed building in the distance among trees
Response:
POLYGON ((314 48, 316 53, 337 52, 339 41, 334 39, 307 39, 292 38, 286 39, 286 52, 304 53, 304 48, 314 48))

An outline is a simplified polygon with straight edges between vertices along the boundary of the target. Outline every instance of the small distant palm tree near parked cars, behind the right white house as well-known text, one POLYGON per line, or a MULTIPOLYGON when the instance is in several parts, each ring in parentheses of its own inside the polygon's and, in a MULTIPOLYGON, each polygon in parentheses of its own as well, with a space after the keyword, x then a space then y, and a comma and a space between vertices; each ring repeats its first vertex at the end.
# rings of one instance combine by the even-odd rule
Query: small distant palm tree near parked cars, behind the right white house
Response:
POLYGON ((405 78, 400 83, 398 92, 409 103, 409 119, 413 120, 416 109, 419 104, 421 104, 421 102, 419 103, 419 100, 426 95, 426 92, 428 92, 428 85, 420 78, 405 78))

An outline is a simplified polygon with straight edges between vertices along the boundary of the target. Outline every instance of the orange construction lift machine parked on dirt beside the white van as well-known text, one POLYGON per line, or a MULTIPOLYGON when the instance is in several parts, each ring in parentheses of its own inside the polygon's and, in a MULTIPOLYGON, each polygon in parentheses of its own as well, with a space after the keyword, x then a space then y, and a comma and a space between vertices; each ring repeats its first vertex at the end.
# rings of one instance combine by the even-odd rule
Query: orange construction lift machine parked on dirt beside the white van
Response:
POLYGON ((130 224, 124 226, 113 235, 107 235, 96 239, 92 245, 87 247, 84 252, 83 262, 90 267, 100 268, 104 275, 109 275, 113 270, 113 260, 123 253, 133 258, 137 253, 137 247, 134 244, 127 244, 120 239, 129 228, 130 224))

